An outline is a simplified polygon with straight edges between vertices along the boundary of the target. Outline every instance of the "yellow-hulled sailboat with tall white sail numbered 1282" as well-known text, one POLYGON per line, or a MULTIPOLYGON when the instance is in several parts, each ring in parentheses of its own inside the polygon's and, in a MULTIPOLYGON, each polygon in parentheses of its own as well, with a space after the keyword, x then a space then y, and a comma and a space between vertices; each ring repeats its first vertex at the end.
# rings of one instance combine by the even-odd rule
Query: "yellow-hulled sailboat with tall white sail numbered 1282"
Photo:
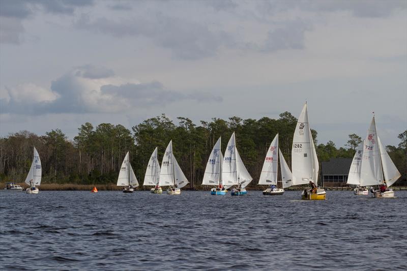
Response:
MULTIPOLYGON (((314 141, 312 140, 311 129, 308 124, 308 109, 305 103, 293 138, 293 148, 291 150, 293 185, 305 185, 314 183, 317 187, 319 164, 316 157, 314 141)), ((302 199, 320 200, 325 199, 326 192, 322 188, 316 191, 304 190, 302 199)))

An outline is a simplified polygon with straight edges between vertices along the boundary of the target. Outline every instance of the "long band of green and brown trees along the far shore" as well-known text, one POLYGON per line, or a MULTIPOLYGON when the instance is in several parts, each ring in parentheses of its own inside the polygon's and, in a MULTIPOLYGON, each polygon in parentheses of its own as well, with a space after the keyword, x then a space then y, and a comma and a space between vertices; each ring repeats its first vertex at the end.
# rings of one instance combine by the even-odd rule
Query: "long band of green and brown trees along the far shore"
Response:
MULTIPOLYGON (((0 182, 23 182, 30 170, 33 146, 42 163, 42 183, 115 184, 126 152, 140 185, 147 163, 155 147, 159 161, 170 139, 173 151, 190 187, 199 187, 212 147, 222 137, 222 152, 232 132, 236 132, 237 148, 253 177, 256 186, 267 149, 279 133, 279 147, 290 166, 290 154, 297 118, 284 112, 278 119, 263 117, 242 119, 234 116, 227 121, 213 118, 197 126, 189 118, 178 117, 175 124, 165 114, 153 117, 132 127, 102 123, 94 127, 85 123, 78 135, 68 140, 62 130, 56 129, 39 136, 21 131, 0 138, 0 182)), ((317 143, 317 131, 312 130, 319 163, 330 158, 353 158, 362 138, 349 135, 344 147, 332 141, 317 143)), ((401 132, 401 131, 400 131, 401 132)), ((364 135, 363 135, 364 137, 364 135)), ((398 135, 398 146, 386 146, 387 151, 405 180, 407 174, 407 130, 398 135)), ((399 180, 400 182, 400 180, 399 180)))

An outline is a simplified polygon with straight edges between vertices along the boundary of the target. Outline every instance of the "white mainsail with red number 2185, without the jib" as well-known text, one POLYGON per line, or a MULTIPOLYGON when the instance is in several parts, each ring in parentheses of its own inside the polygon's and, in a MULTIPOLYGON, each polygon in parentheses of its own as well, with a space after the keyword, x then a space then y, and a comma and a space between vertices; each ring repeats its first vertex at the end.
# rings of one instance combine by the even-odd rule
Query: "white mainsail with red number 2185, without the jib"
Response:
POLYGON ((277 168, 278 168, 278 134, 274 137, 267 150, 266 158, 261 169, 259 185, 277 185, 277 168))

